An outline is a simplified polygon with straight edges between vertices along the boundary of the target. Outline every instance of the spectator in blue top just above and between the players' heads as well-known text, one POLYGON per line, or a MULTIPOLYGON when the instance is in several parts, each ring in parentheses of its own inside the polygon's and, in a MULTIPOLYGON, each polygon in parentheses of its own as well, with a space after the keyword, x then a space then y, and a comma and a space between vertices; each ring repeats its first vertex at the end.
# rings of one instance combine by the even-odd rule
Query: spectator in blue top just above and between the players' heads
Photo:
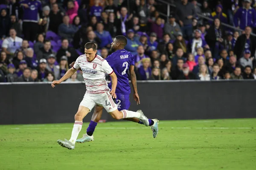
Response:
POLYGON ((101 43, 99 44, 99 48, 103 48, 103 47, 110 48, 113 40, 110 33, 104 30, 104 26, 102 23, 97 23, 95 34, 101 40, 101 43))

